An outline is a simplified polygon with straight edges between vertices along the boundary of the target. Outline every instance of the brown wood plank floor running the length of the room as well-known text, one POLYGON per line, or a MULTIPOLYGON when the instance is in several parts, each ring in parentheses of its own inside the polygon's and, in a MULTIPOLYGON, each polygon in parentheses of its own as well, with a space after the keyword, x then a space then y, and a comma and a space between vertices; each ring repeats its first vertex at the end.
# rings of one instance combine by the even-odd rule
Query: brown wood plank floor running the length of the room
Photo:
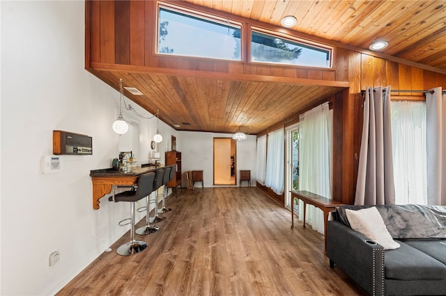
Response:
POLYGON ((148 249, 116 254, 125 233, 57 295, 366 295, 258 188, 183 190, 167 206, 160 231, 136 237, 148 249))

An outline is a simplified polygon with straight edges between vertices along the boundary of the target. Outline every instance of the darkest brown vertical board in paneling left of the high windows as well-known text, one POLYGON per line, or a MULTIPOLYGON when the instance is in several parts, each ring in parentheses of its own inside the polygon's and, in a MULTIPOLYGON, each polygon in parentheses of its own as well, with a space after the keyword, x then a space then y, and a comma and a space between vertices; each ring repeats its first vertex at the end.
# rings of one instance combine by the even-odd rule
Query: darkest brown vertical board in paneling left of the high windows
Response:
POLYGON ((130 64, 130 1, 114 4, 115 63, 130 64))

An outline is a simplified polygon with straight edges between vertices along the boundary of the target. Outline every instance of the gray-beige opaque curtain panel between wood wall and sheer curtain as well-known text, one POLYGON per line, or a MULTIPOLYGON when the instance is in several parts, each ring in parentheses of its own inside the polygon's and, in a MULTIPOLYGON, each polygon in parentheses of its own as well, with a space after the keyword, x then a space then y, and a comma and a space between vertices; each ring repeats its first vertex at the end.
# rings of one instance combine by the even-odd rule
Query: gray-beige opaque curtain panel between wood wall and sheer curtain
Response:
POLYGON ((390 86, 366 89, 355 204, 394 204, 390 86))

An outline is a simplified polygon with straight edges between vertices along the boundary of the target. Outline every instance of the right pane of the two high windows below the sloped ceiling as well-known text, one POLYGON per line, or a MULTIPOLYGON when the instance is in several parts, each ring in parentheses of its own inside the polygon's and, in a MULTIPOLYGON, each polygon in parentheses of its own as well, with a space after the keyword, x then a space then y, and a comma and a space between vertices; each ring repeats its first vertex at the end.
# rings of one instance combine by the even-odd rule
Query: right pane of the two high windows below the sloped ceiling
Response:
POLYGON ((330 49, 252 31, 253 62, 330 67, 330 54, 330 49))

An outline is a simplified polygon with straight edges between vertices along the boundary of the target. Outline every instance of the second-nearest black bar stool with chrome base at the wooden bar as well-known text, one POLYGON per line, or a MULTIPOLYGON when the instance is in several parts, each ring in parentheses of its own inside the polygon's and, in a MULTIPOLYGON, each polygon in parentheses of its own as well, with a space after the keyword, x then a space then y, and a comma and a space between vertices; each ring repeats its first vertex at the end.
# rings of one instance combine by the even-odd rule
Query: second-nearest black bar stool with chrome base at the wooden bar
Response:
MULTIPOLYGON (((149 194, 146 197, 146 206, 141 206, 141 208, 138 208, 137 211, 138 212, 142 212, 142 211, 146 211, 146 225, 144 225, 143 227, 139 227, 139 229, 137 229, 136 233, 139 234, 140 236, 146 236, 149 233, 153 233, 156 232, 160 229, 160 227, 156 226, 156 225, 151 225, 150 224, 150 219, 151 219, 151 203, 155 203, 155 216, 154 216, 154 220, 153 222, 160 222, 162 220, 162 217, 160 217, 158 215, 158 195, 157 195, 157 190, 158 188, 161 187, 162 185, 162 178, 164 176, 164 168, 160 168, 155 170, 155 179, 153 179, 153 186, 152 186, 152 190, 151 192, 149 192, 149 194), (155 192, 155 200, 150 199, 150 194, 155 192)), ((166 219, 164 217, 164 219, 166 219)))

